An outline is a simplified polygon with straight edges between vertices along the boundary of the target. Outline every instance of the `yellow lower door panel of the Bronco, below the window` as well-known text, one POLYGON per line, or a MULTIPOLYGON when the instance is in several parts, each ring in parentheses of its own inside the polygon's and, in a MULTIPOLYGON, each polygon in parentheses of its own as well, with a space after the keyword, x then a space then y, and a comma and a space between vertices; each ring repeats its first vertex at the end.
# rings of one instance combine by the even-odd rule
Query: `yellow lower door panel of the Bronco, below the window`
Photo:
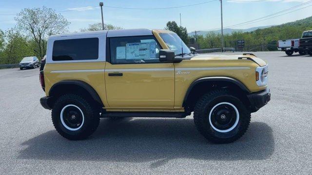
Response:
POLYGON ((171 108, 175 102, 173 63, 106 63, 108 107, 171 108), (109 76, 121 72, 122 76, 109 76))

